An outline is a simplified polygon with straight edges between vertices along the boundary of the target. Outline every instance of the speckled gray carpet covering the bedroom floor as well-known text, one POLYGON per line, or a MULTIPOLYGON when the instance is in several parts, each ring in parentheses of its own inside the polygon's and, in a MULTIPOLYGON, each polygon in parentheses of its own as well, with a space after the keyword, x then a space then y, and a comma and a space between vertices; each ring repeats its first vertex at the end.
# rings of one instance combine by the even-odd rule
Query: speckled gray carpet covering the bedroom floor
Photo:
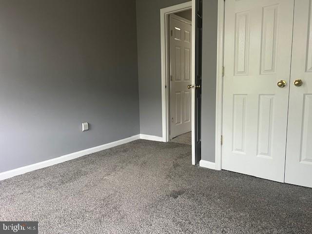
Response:
POLYGON ((0 181, 0 220, 40 234, 311 234, 312 189, 191 165, 137 140, 0 181))

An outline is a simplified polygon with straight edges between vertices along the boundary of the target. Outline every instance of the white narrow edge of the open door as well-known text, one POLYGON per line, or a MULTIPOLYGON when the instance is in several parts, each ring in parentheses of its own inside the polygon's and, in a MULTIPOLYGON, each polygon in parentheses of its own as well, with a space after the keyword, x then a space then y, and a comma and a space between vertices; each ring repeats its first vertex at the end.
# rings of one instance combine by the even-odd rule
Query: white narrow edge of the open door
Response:
MULTIPOLYGON (((196 0, 192 0, 192 84, 195 85, 196 0)), ((192 165, 195 165, 195 89, 192 89, 192 165)))

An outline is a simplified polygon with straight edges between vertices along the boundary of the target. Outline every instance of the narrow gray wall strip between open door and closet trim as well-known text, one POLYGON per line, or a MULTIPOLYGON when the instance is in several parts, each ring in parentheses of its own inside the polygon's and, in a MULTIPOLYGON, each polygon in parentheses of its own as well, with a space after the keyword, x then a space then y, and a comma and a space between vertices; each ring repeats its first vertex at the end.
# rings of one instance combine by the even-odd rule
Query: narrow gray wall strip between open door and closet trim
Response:
POLYGON ((217 0, 203 0, 201 159, 215 162, 217 0))

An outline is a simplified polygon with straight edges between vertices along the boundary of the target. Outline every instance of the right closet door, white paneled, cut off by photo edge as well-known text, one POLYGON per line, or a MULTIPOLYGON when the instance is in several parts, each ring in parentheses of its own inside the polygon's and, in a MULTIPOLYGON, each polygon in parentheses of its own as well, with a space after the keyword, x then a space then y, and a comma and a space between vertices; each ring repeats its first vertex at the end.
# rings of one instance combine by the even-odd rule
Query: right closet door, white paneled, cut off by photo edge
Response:
POLYGON ((285 182, 312 187, 312 1, 294 7, 285 182), (298 80, 297 80, 298 79, 298 80), (297 85, 294 82, 297 80, 297 85))

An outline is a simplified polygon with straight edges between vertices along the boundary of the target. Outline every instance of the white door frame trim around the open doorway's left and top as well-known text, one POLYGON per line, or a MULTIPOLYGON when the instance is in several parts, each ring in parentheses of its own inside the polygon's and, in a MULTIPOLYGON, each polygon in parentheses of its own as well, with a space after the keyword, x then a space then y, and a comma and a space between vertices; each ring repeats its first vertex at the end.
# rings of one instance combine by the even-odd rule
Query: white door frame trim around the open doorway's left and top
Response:
MULTIPOLYGON (((194 1, 194 0, 193 0, 194 1)), ((169 82, 168 74, 169 68, 167 64, 168 60, 168 15, 184 10, 191 9, 192 1, 184 2, 174 6, 169 6, 160 9, 160 44, 161 44, 161 114, 162 114, 162 141, 169 141, 169 82)), ((192 26, 193 28, 193 26, 192 26)), ((193 30, 192 30, 193 31, 193 30)), ((195 57, 194 57, 195 58, 195 57)), ((193 65, 193 63, 192 63, 193 65)), ((192 67, 192 69, 195 68, 192 67)), ((195 69, 194 69, 195 70, 195 69)), ((193 70, 193 71, 194 71, 193 70)))

